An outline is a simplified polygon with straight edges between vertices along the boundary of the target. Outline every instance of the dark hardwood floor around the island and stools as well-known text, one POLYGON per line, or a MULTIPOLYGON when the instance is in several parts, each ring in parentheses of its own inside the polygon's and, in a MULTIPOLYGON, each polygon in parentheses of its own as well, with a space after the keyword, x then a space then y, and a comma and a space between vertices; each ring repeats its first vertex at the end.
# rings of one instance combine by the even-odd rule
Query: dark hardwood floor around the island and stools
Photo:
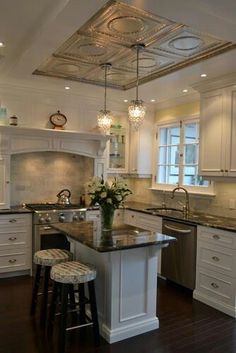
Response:
MULTIPOLYGON (((38 320, 29 316, 29 277, 0 280, 0 353, 55 353, 38 320)), ((236 320, 191 298, 191 293, 159 280, 160 329, 94 347, 90 329, 68 337, 67 353, 235 353, 236 320)))

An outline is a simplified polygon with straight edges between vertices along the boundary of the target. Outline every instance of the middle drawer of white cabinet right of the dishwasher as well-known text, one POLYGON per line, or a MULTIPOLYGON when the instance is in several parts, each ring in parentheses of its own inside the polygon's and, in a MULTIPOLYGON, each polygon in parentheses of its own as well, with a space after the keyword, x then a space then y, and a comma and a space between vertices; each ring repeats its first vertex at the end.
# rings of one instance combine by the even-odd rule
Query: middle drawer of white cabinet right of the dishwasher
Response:
POLYGON ((198 242, 197 265, 236 277, 236 250, 198 242))

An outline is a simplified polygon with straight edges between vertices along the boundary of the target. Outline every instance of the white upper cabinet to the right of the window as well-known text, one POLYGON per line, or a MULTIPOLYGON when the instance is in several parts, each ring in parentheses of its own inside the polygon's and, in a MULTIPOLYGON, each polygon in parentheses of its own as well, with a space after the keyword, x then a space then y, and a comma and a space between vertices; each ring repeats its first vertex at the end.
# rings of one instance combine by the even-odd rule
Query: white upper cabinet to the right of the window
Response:
POLYGON ((199 174, 236 176, 236 87, 201 93, 199 174))

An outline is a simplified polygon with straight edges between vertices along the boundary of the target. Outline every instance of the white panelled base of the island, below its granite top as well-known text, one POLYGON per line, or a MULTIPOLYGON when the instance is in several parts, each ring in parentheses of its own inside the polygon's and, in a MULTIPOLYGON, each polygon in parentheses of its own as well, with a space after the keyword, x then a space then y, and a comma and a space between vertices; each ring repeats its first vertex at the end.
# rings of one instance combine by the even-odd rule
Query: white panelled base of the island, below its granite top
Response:
POLYGON ((109 343, 158 329, 157 255, 160 246, 97 252, 73 244, 76 259, 97 268, 100 334, 109 343))

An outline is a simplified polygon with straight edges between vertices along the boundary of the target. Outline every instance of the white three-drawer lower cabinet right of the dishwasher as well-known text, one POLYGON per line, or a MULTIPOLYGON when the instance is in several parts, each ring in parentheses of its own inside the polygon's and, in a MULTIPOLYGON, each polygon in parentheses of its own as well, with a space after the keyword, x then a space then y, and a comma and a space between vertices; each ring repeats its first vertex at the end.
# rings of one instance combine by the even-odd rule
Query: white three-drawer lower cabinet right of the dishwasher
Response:
POLYGON ((236 317, 236 233, 198 227, 193 297, 236 317))

